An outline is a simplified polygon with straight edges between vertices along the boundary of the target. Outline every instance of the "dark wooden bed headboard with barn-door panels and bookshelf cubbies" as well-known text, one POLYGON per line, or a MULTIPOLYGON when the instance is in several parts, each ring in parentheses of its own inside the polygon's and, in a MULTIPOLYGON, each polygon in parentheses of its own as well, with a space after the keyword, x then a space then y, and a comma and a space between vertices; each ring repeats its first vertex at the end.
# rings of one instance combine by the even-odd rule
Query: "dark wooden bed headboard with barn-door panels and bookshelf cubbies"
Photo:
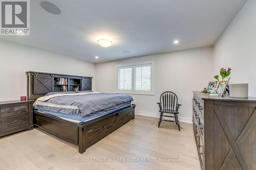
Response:
POLYGON ((79 91, 92 90, 92 77, 52 74, 47 72, 27 71, 27 99, 36 100, 49 92, 59 91, 61 84, 55 84, 56 79, 66 79, 66 88, 73 91, 74 86, 79 91), (74 82, 75 80, 75 82, 74 82))

